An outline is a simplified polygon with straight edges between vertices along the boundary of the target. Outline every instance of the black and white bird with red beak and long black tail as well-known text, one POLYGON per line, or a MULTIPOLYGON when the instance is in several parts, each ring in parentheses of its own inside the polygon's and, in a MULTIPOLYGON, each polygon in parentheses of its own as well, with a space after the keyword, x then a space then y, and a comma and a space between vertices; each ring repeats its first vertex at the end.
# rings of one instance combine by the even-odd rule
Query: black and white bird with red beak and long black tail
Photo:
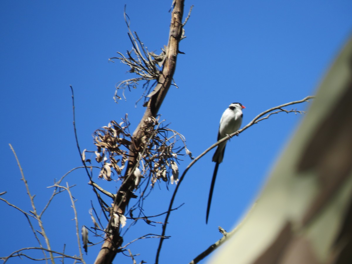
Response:
MULTIPOLYGON (((237 130, 239 130, 242 124, 243 108, 245 107, 241 103, 231 103, 231 105, 228 106, 228 108, 222 114, 220 119, 218 141, 226 137, 227 135, 230 135, 233 132, 236 132, 237 130)), ((222 162, 222 159, 224 158, 226 143, 227 143, 227 140, 219 144, 213 156, 213 162, 216 162, 216 164, 215 164, 215 169, 213 173, 212 184, 210 185, 210 191, 209 191, 207 218, 206 218, 207 224, 208 224, 210 203, 212 202, 215 178, 216 178, 216 174, 218 173, 219 164, 222 162)))

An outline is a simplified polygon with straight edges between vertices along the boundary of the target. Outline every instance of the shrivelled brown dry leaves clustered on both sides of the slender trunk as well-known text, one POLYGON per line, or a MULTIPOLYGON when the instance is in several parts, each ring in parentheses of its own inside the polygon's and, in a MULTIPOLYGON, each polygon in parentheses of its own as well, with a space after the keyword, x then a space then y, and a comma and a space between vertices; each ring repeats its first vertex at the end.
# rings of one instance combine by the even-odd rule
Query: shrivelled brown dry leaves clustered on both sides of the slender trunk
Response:
MULTIPOLYGON (((191 157, 191 152, 186 147, 185 138, 167 126, 161 126, 163 121, 158 118, 148 118, 144 121, 144 136, 140 140, 138 152, 138 167, 134 170, 136 186, 141 178, 149 178, 153 187, 160 180, 173 184, 178 181, 178 155, 185 149, 186 154, 191 157), (181 139, 182 146, 176 146, 181 139)), ((111 121, 107 126, 96 130, 93 134, 96 145, 95 160, 101 164, 99 178, 111 181, 113 175, 121 176, 128 159, 129 146, 132 138, 128 130, 130 123, 127 115, 119 124, 111 121)), ((83 159, 85 159, 83 151, 83 159)), ((93 151, 90 151, 93 152, 93 151)), ((90 161, 90 160, 86 160, 90 161)), ((118 179, 116 179, 118 180, 118 179)))

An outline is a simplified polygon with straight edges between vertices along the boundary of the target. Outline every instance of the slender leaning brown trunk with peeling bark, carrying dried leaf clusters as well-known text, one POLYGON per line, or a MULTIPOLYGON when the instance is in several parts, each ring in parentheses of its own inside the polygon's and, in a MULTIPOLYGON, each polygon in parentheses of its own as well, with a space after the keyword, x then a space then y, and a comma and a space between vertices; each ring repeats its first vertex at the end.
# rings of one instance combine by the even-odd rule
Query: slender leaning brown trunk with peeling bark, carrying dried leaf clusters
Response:
MULTIPOLYGON (((165 50, 166 59, 163 64, 162 74, 158 78, 158 84, 154 89, 155 93, 152 93, 150 96, 142 120, 133 132, 133 144, 131 144, 129 152, 130 158, 128 159, 124 182, 121 184, 121 187, 117 193, 116 201, 114 202, 113 212, 118 212, 120 214, 125 213, 125 208, 130 201, 132 190, 134 188, 134 179, 133 177, 130 177, 130 175, 132 174, 132 170, 137 163, 138 152, 143 148, 143 145, 140 143, 140 139, 144 136, 144 120, 149 117, 156 117, 165 95, 170 88, 172 77, 176 68, 178 45, 182 35, 183 6, 184 0, 175 1, 175 5, 171 13, 169 43, 165 50)), ((119 246, 121 246, 123 242, 122 237, 119 235, 119 231, 120 230, 118 227, 108 225, 107 232, 110 232, 110 234, 107 235, 106 240, 94 262, 95 264, 112 263, 116 253, 118 253, 119 246)))

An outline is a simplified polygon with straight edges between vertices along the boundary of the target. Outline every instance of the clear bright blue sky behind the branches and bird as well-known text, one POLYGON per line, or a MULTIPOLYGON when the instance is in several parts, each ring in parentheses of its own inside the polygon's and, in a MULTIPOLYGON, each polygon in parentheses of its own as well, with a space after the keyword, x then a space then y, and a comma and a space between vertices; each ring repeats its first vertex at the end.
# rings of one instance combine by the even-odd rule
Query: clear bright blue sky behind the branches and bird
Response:
MULTIPOLYGON (((75 90, 78 139, 82 149, 94 150, 92 133, 110 120, 129 114, 132 130, 145 108, 134 107, 142 89, 126 93, 127 102, 113 101, 114 86, 132 77, 122 63, 109 63, 116 51, 131 48, 123 18, 124 4, 149 50, 167 44, 170 1, 1 1, 1 177, 2 198, 30 210, 20 171, 8 146, 23 167, 31 193, 41 210, 55 178, 81 165, 72 126, 71 84, 75 90)), ((194 156, 216 141, 222 112, 232 102, 246 106, 244 122, 282 103, 314 94, 335 55, 350 36, 352 1, 217 1, 187 0, 185 27, 171 87, 160 109, 170 128, 182 133, 194 156)), ((307 109, 308 104, 297 108, 307 109)), ((274 115, 235 137, 220 165, 208 225, 206 202, 214 168, 213 151, 187 174, 169 219, 161 263, 188 263, 221 237, 218 226, 230 231, 256 197, 290 135, 299 115, 274 115)), ((180 172, 189 164, 184 158, 180 172)), ((97 177, 98 174, 95 175, 97 177)), ((77 199, 79 224, 92 226, 88 210, 94 200, 88 178, 76 170, 66 181, 77 199)), ((99 181, 114 192, 119 183, 99 181)), ((166 210, 174 186, 157 186, 145 201, 147 215, 166 210)), ((0 202, 0 256, 22 247, 38 246, 29 225, 17 210, 0 202)), ((73 211, 67 194, 52 202, 43 222, 52 249, 78 254, 73 211)), ((164 218, 158 219, 163 221, 164 218)), ((124 242, 161 226, 140 222, 124 242)), ((255 238, 253 238, 255 239, 255 238)), ((93 241, 97 241, 91 239, 93 241)), ((132 244, 133 254, 154 263, 158 239, 132 244)), ((89 247, 93 263, 100 246, 89 247)), ((28 253, 28 252, 27 252, 28 253)), ((32 256, 41 256, 40 253, 32 256)), ((13 259, 9 263, 29 263, 13 259)), ((119 254, 115 263, 132 263, 119 254)), ((68 261, 68 263, 71 263, 68 261)))

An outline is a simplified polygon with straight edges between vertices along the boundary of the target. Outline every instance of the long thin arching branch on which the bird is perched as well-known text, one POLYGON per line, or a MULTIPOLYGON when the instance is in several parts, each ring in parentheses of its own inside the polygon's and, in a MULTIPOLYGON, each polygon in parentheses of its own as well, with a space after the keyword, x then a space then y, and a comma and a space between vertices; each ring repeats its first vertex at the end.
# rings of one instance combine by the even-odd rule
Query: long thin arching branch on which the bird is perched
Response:
POLYGON ((250 121, 246 126, 244 126, 243 128, 241 128, 240 130, 228 135, 227 137, 224 137, 222 139, 220 139, 218 142, 214 143, 213 145, 211 145, 210 147, 208 147, 205 151, 203 151, 198 157, 196 157, 190 164, 188 164, 188 166, 186 167, 186 169, 183 171, 181 177, 180 177, 180 180, 178 181, 178 184, 174 190, 174 194, 172 195, 171 197, 171 200, 170 200, 170 205, 169 205, 169 209, 168 209, 168 213, 166 214, 166 217, 165 217, 165 224, 163 225, 163 231, 162 231, 162 237, 161 237, 161 240, 159 242, 159 246, 158 246, 158 250, 157 250, 157 254, 156 254, 156 264, 158 263, 158 259, 159 259, 159 254, 160 254, 160 251, 161 251, 161 247, 162 247, 162 244, 163 244, 163 236, 165 235, 165 231, 166 231, 166 226, 168 224, 168 220, 169 220, 169 216, 170 216, 170 209, 172 208, 172 205, 174 203, 174 200, 175 200, 175 196, 176 196, 176 193, 177 193, 177 190, 178 188, 180 187, 180 184, 184 178, 184 176, 186 175, 187 171, 191 168, 191 166, 193 166, 194 163, 196 163, 201 157, 203 157, 206 153, 208 153, 210 150, 212 150, 214 147, 216 147, 217 145, 219 145, 220 143, 222 142, 225 142, 226 140, 228 140, 229 138, 235 136, 235 135, 238 135, 239 133, 245 131, 247 128, 249 128, 250 126, 254 125, 254 124, 257 124, 260 120, 259 118, 262 117, 263 115, 269 113, 269 112, 272 112, 276 109, 280 109, 282 107, 285 107, 285 106, 289 106, 289 105, 294 105, 296 103, 302 103, 302 102, 309 102, 308 100, 309 99, 313 99, 314 96, 307 96, 306 98, 303 98, 302 100, 298 100, 298 101, 293 101, 293 102, 289 102, 289 103, 284 103, 283 105, 279 105, 279 106, 276 106, 276 107, 273 107, 273 108, 270 108, 262 113, 260 113, 259 115, 257 115, 252 121, 250 121))

